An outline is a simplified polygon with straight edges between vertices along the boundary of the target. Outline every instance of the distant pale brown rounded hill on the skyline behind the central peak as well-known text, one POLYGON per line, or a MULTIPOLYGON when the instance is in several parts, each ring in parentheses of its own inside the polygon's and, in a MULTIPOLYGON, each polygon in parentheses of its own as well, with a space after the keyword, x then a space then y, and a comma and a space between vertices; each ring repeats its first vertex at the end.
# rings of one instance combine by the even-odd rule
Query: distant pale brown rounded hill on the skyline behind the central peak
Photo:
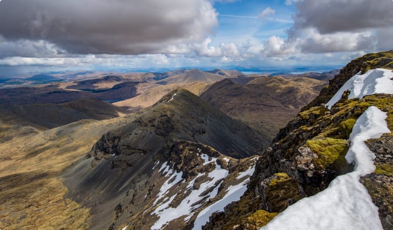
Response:
POLYGON ((223 79, 219 74, 203 72, 199 69, 186 70, 182 74, 170 76, 169 78, 158 81, 158 84, 190 84, 193 82, 214 83, 223 79))

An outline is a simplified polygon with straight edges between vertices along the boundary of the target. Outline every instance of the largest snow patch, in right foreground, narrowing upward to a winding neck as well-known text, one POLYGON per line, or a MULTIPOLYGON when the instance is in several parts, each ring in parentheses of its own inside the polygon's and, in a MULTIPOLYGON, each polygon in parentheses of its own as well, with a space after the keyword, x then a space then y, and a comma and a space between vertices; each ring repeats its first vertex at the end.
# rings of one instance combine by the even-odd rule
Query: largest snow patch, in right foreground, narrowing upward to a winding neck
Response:
POLYGON ((350 134, 351 146, 346 155, 354 170, 336 177, 316 195, 303 198, 276 216, 263 230, 272 229, 382 229, 375 206, 360 177, 375 170, 375 155, 364 141, 389 133, 386 113, 370 106, 355 122, 350 134))

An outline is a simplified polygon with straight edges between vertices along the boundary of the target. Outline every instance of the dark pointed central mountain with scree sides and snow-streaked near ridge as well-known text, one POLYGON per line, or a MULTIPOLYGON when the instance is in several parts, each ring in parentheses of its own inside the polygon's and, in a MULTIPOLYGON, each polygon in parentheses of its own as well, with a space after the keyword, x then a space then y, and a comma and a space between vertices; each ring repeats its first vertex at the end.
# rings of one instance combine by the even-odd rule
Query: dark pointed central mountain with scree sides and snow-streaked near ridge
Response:
POLYGON ((184 89, 137 116, 103 135, 65 175, 70 198, 91 208, 92 229, 182 229, 196 219, 205 222, 241 196, 252 156, 266 142, 184 89), (210 206, 215 201, 220 206, 210 206))

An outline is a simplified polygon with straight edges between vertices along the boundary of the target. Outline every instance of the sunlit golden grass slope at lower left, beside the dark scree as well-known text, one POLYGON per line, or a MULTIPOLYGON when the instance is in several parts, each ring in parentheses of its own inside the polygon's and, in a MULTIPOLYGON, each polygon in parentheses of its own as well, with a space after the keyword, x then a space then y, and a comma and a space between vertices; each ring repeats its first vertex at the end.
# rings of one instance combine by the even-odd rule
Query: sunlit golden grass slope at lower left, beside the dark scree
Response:
POLYGON ((8 133, 12 139, 0 145, 0 229, 87 228, 89 209, 66 198, 60 174, 104 132, 127 120, 82 120, 25 135, 8 133))

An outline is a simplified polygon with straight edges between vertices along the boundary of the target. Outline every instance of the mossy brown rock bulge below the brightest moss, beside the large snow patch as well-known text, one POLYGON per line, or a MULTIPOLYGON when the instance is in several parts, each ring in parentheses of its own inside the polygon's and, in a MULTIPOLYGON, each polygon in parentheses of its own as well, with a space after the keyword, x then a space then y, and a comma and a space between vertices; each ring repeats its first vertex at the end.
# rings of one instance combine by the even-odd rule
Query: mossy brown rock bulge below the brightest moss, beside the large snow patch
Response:
POLYGON ((273 213, 282 212, 288 205, 303 198, 298 184, 286 173, 274 174, 266 189, 266 198, 273 213))

